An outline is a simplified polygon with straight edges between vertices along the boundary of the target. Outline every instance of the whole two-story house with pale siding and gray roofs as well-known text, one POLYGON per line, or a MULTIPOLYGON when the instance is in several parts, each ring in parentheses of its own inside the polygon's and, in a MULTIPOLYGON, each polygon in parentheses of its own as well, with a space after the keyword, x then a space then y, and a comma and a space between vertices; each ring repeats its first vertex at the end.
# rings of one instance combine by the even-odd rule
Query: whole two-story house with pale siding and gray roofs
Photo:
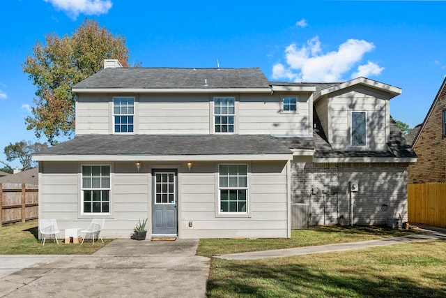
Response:
POLYGON ((259 68, 105 69, 79 82, 75 138, 34 156, 39 218, 105 218, 102 237, 291 237, 406 216, 401 89, 364 77, 270 82, 259 68), (295 214, 295 205, 305 206, 295 214))

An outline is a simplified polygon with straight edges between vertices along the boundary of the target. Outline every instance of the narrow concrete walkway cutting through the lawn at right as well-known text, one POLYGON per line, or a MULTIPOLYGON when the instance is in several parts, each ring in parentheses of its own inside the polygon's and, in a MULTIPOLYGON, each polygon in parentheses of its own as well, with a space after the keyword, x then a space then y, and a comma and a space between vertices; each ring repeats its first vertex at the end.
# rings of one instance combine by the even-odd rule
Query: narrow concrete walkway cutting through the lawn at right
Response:
POLYGON ((403 237, 393 237, 386 239, 376 239, 376 240, 350 242, 342 244, 306 246, 300 248, 277 249, 272 251, 253 251, 249 253, 231 253, 228 255, 218 255, 215 256, 215 258, 221 258, 224 260, 257 260, 263 258, 291 257, 293 255, 309 255, 313 253, 350 251, 352 249, 368 248, 374 246, 386 246, 392 244, 402 244, 413 241, 446 239, 446 231, 444 229, 436 229, 427 226, 424 226, 424 228, 429 229, 429 232, 426 232, 425 234, 413 234, 410 236, 403 236, 403 237))

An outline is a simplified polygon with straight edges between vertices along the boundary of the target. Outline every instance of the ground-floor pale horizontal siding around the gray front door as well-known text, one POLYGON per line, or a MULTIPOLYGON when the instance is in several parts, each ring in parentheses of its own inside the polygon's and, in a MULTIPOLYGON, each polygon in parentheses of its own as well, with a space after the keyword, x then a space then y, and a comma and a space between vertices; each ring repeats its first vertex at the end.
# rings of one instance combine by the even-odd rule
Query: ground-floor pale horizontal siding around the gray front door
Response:
MULTIPOLYGON (((151 226, 151 167, 136 172, 132 162, 112 164, 112 214, 106 216, 103 237, 128 238, 138 219, 151 226)), ((197 162, 178 173, 178 229, 180 237, 286 237, 286 163, 253 162, 249 174, 249 217, 215 216, 218 162, 197 162), (189 227, 192 221, 192 227, 189 227), (253 234, 248 236, 247 231, 253 234), (265 232, 260 233, 261 230, 265 232), (243 232, 242 232, 243 231, 243 232), (279 236, 283 235, 283 236, 279 236)), ((169 165, 164 165, 169 167, 169 165)), ((56 218, 61 229, 86 228, 89 216, 80 215, 79 163, 42 163, 40 218, 56 218)), ((149 233, 150 227, 148 227, 149 233)))

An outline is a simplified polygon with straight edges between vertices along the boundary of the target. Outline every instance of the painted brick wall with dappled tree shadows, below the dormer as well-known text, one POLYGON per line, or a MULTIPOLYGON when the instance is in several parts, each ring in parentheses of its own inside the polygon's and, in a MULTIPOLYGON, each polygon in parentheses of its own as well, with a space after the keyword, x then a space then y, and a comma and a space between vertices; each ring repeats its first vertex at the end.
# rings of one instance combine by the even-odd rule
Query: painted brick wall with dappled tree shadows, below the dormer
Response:
POLYGON ((387 218, 407 221, 407 164, 292 163, 291 202, 310 205, 310 225, 383 225, 387 218), (349 182, 359 191, 350 193, 349 182))

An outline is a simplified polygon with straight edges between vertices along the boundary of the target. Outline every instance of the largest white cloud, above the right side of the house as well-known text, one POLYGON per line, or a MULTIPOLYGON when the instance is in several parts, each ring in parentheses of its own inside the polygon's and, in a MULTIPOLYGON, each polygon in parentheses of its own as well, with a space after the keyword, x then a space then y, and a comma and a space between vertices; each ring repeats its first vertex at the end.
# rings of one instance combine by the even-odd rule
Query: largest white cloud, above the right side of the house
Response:
MULTIPOLYGON (((375 45, 366 40, 349 39, 339 45, 337 51, 324 53, 321 41, 315 36, 302 47, 298 47, 295 43, 286 47, 287 66, 282 64, 273 66, 272 78, 294 82, 337 82, 360 63, 364 54, 374 48, 375 45)), ((383 68, 369 62, 362 68, 358 67, 357 73, 365 73, 366 70, 369 70, 369 74, 377 75, 383 68)))

